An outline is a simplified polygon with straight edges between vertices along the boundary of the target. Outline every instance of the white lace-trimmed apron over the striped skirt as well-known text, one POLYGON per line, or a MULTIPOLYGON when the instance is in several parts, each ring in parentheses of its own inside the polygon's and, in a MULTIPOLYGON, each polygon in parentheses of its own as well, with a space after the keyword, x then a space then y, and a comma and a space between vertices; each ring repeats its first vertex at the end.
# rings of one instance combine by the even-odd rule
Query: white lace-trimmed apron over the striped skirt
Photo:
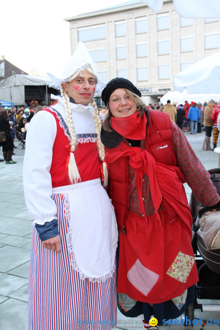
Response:
POLYGON ((118 231, 114 209, 101 179, 53 188, 66 195, 71 264, 80 278, 105 281, 115 270, 118 231))

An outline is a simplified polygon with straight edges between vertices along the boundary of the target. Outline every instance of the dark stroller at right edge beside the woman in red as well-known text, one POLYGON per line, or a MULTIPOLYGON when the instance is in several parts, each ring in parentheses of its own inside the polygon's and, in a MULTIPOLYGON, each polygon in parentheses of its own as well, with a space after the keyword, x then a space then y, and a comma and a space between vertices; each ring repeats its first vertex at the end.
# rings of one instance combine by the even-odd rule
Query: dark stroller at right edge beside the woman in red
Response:
MULTIPOLYGON (((211 175, 211 180, 220 195, 220 169, 212 169, 208 171, 211 175)), ((195 284, 196 298, 185 311, 185 317, 194 319, 194 311, 200 310, 201 312, 220 312, 220 304, 199 304, 197 299, 220 299, 220 248, 206 249, 202 234, 199 231, 199 220, 202 215, 211 211, 210 207, 203 207, 195 198, 192 193, 190 199, 191 214, 193 216, 192 225, 192 247, 196 259, 198 269, 199 281, 195 284), (196 216, 198 214, 198 217, 196 216)), ((217 208, 220 211, 220 208, 217 208)))

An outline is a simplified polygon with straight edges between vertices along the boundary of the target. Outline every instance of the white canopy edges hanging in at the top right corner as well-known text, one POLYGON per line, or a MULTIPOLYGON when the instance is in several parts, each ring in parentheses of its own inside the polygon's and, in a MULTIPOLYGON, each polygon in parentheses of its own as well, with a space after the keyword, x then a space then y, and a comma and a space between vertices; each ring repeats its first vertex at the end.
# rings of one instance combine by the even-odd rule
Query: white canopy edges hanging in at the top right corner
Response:
MULTIPOLYGON (((153 12, 162 10, 163 0, 140 0, 146 3, 153 12)), ((177 14, 185 18, 218 18, 220 17, 219 0, 173 0, 177 14)))

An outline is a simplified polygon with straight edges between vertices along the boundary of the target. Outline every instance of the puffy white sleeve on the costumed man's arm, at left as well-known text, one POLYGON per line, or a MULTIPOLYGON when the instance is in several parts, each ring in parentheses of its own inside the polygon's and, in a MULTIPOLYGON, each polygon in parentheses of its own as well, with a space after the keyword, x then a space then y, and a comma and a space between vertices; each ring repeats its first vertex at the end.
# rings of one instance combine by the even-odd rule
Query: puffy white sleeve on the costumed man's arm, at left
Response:
POLYGON ((56 120, 47 111, 37 113, 28 126, 23 164, 23 186, 27 209, 34 222, 43 225, 56 219, 56 205, 52 200, 50 167, 56 120))

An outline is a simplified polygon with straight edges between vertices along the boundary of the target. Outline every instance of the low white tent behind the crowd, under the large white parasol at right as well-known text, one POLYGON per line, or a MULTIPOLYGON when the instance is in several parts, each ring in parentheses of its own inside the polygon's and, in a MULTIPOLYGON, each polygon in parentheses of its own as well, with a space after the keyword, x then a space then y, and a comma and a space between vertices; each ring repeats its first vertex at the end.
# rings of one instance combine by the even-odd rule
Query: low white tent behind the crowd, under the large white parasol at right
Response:
POLYGON ((220 94, 188 94, 186 89, 184 89, 182 93, 178 92, 177 90, 167 92, 164 96, 161 97, 160 102, 166 104, 167 100, 170 100, 171 104, 173 102, 184 104, 185 101, 188 101, 189 103, 192 101, 197 103, 204 103, 205 101, 208 102, 210 99, 218 101, 220 99, 220 94))

